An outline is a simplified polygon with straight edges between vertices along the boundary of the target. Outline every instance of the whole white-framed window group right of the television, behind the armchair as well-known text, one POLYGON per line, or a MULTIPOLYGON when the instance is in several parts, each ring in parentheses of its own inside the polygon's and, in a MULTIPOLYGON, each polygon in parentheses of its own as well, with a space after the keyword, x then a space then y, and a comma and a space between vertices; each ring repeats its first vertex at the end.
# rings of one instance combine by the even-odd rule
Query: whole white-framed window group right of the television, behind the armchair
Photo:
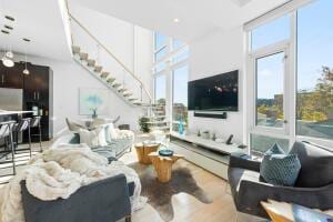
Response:
POLYGON ((254 152, 295 140, 333 144, 333 1, 306 2, 290 1, 245 26, 254 152))

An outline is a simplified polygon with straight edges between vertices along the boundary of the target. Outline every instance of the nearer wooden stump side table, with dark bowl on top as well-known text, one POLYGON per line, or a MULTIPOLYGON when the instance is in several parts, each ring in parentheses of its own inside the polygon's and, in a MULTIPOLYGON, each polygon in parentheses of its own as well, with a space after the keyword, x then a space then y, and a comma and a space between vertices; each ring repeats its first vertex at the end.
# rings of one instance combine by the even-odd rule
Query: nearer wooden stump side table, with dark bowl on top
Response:
POLYGON ((172 157, 162 157, 158 152, 149 154, 151 162, 157 171, 158 179, 162 183, 167 183, 171 180, 172 164, 179 159, 184 158, 180 154, 173 154, 172 157))

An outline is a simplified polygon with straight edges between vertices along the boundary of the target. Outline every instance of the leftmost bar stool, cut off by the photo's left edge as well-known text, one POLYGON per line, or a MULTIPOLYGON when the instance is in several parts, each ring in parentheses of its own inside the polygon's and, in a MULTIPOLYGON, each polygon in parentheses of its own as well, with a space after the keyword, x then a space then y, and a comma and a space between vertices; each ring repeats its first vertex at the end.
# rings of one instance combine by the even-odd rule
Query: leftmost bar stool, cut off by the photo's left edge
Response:
POLYGON ((13 147, 13 138, 12 138, 12 128, 14 125, 14 121, 8 121, 8 122, 0 122, 0 139, 4 140, 4 150, 1 151, 0 153, 3 153, 3 157, 7 158, 8 154, 11 153, 11 160, 1 161, 0 164, 6 164, 6 163, 12 163, 12 171, 13 174, 17 173, 16 171, 16 160, 14 160, 14 147, 13 147))

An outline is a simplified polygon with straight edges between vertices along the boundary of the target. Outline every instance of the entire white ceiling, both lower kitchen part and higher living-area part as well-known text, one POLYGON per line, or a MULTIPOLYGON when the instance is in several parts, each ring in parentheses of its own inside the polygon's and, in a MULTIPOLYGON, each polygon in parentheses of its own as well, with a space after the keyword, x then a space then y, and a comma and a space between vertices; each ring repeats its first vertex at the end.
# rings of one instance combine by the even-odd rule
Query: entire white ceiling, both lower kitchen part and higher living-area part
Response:
MULTIPOLYGON (((14 52, 70 60, 61 0, 0 0, 0 29, 13 27, 10 34, 0 32, 0 49, 11 46, 14 52), (14 22, 4 19, 11 16, 14 22), (31 39, 27 43, 22 38, 31 39)), ((216 30, 228 30, 289 0, 68 0, 143 28, 160 31, 185 42, 216 30), (174 22, 178 19, 179 22, 174 22)), ((89 16, 89 14, 87 14, 89 16)), ((2 57, 2 54, 0 54, 2 57)))

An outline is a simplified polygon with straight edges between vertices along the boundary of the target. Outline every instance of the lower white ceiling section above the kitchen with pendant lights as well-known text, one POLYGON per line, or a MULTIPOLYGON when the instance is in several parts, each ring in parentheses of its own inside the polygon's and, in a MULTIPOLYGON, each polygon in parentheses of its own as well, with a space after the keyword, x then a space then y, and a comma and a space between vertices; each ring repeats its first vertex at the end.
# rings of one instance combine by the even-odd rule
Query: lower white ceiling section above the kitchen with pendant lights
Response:
MULTIPOLYGON (((0 32, 0 48, 59 60, 71 59, 58 0, 0 0, 0 28, 10 24, 10 34, 0 32), (9 14, 14 22, 4 19, 9 14), (22 38, 31 39, 27 43, 22 38)), ((2 57, 2 53, 0 54, 2 57)), ((28 58, 29 60, 29 58, 28 58)))

